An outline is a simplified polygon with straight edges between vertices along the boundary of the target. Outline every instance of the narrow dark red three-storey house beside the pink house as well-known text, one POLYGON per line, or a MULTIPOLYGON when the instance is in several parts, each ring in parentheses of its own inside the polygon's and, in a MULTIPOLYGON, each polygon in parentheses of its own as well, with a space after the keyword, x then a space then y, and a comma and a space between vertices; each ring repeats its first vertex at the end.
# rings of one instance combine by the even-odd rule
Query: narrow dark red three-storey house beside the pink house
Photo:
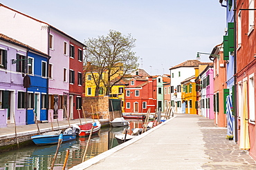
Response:
POLYGON ((69 110, 71 118, 79 118, 82 115, 82 72, 83 72, 83 48, 84 45, 77 41, 69 42, 69 110), (78 111, 79 110, 79 111, 78 111))

